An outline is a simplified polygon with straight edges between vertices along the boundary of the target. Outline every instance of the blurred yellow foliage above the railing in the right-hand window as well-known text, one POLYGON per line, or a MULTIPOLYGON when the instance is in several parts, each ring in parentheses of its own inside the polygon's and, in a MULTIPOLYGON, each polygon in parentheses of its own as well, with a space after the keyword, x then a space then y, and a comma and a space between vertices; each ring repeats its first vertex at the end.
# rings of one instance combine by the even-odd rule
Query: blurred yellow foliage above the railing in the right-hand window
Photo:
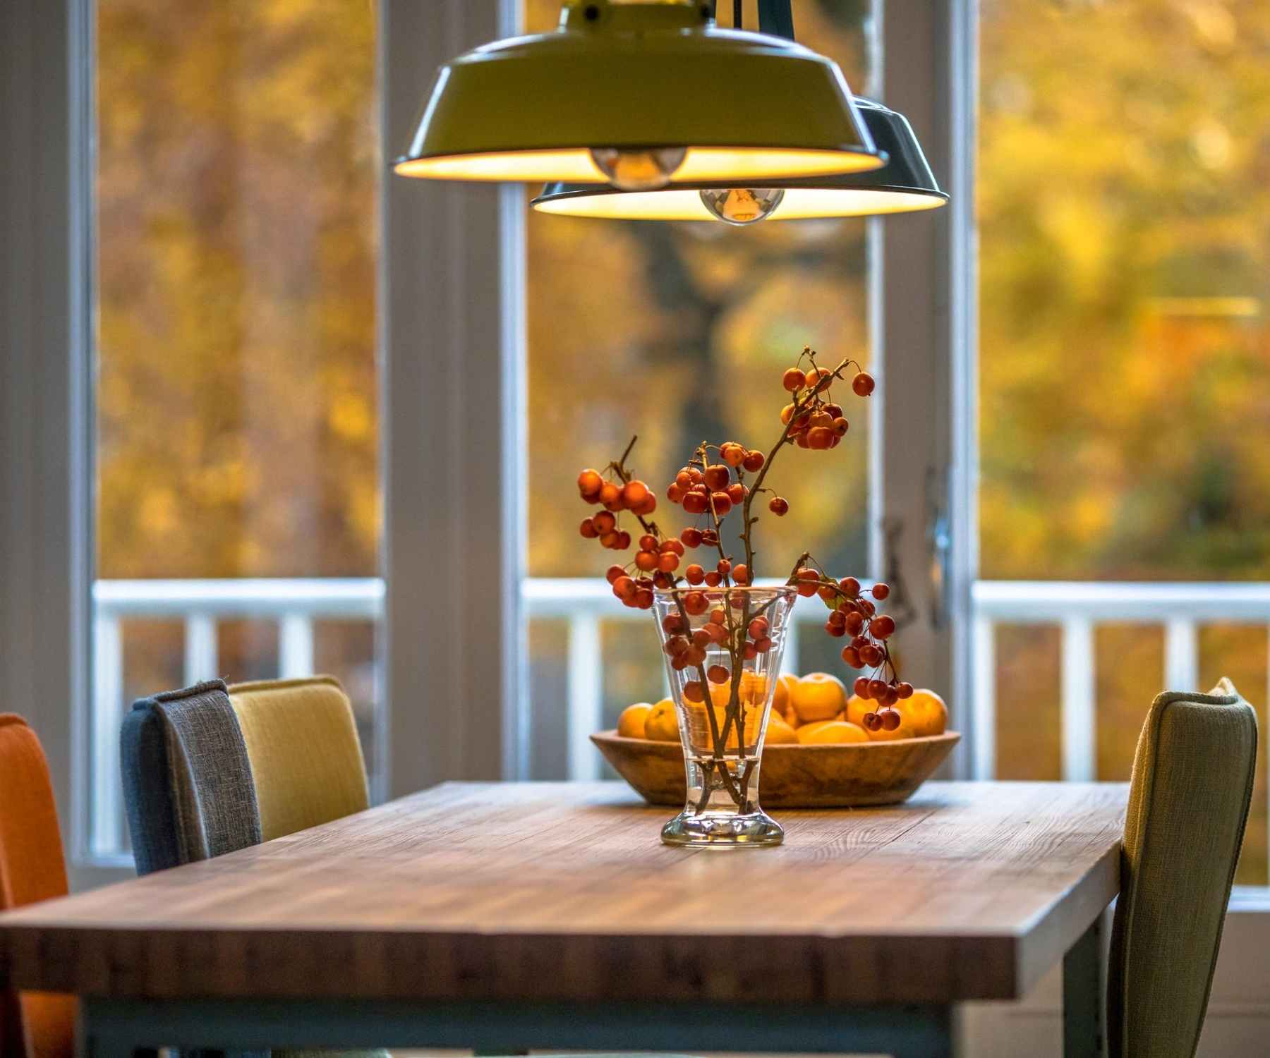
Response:
POLYGON ((980 11, 982 573, 1264 578, 1270 8, 980 11))

